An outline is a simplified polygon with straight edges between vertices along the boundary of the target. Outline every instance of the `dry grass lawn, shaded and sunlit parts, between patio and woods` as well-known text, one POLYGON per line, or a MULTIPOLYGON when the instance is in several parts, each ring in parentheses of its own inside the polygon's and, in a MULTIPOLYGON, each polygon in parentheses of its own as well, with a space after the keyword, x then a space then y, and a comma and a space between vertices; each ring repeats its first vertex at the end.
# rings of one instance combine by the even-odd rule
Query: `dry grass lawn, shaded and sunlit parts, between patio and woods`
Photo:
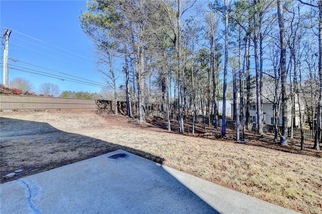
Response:
MULTIPOLYGON (((247 133, 237 144, 197 126, 196 134, 164 129, 166 121, 91 111, 0 112, 1 183, 123 149, 211 182, 303 213, 322 213, 322 152, 279 146, 247 133), (13 178, 3 176, 22 169, 13 178)), ((176 121, 172 121, 176 130, 176 121)), ((187 127, 191 126, 189 122, 187 127)))

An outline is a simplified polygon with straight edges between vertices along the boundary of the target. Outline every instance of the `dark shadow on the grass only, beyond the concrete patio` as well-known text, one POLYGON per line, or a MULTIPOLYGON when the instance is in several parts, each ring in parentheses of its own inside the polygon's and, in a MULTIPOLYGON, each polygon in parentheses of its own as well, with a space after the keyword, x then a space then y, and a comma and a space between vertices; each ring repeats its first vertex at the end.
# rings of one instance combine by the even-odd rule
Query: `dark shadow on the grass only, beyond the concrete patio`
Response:
POLYGON ((124 150, 162 164, 164 159, 141 150, 60 131, 47 123, 1 118, 1 182, 124 150), (22 169, 12 178, 4 175, 22 169))

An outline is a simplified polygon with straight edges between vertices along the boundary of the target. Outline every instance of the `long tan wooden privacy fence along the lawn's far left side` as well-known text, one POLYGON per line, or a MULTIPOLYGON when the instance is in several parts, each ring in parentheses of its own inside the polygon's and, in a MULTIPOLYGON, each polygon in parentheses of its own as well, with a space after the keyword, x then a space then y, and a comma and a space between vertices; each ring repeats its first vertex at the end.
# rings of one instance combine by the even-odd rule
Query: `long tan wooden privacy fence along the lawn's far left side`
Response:
MULTIPOLYGON (((0 94, 0 111, 105 110, 115 112, 110 100, 0 94)), ((126 114, 126 102, 118 101, 118 112, 126 114)))

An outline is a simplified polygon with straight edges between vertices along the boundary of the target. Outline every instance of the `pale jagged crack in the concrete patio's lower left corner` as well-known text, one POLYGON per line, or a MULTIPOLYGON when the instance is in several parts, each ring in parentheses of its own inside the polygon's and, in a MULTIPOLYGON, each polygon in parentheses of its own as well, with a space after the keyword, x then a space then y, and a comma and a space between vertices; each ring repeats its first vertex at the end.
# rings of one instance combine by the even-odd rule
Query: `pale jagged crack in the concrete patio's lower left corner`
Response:
POLYGON ((27 196, 27 205, 33 210, 34 213, 42 214, 42 211, 38 208, 34 200, 39 200, 41 198, 42 188, 27 179, 18 179, 23 186, 25 186, 26 196, 27 196))

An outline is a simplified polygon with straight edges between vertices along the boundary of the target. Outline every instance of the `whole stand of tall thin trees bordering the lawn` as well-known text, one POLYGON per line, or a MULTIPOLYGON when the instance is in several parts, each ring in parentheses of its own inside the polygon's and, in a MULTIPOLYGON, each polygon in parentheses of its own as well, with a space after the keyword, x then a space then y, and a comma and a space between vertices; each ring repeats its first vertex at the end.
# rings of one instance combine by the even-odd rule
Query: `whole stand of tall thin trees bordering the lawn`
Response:
MULTIPOLYGON (((114 88, 115 100, 116 90, 124 86, 128 114, 133 111, 140 122, 157 110, 165 112, 168 121, 170 112, 176 114, 180 133, 187 131, 185 115, 201 114, 217 129, 219 112, 225 112, 225 108, 218 109, 217 102, 227 99, 231 91, 231 116, 238 114, 243 130, 251 121, 251 102, 256 100, 254 117, 260 135, 267 124, 263 100, 270 97, 275 140, 280 135, 280 143, 287 144, 285 127, 293 129, 295 117, 315 127, 316 142, 321 138, 322 89, 309 83, 322 84, 321 4, 94 0, 79 18, 95 44, 98 63, 114 88), (116 61, 122 67, 115 68, 116 61), (272 83, 271 95, 265 81, 272 83), (315 104, 306 96, 315 99, 315 104), (303 106, 301 114, 295 113, 295 105, 303 106)), ((223 125, 229 114, 224 115, 223 125)))

